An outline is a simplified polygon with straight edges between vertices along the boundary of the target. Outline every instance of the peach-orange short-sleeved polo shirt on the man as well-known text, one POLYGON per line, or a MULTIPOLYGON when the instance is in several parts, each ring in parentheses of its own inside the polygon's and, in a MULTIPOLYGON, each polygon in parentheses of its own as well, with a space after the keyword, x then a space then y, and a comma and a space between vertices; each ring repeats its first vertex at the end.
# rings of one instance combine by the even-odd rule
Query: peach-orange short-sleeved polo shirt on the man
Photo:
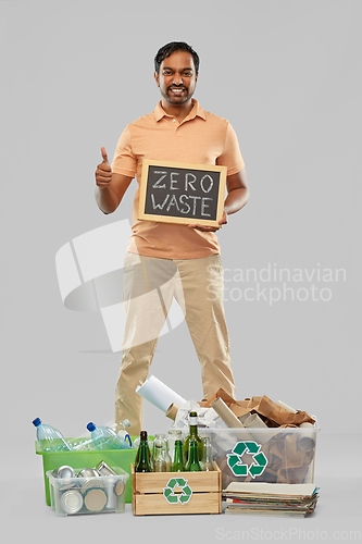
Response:
POLYGON ((227 175, 244 169, 237 136, 225 119, 204 111, 192 99, 192 110, 182 123, 161 107, 126 126, 112 162, 112 171, 137 178, 128 251, 163 259, 196 259, 220 252, 214 233, 187 225, 138 220, 142 160, 194 162, 227 166, 227 175))

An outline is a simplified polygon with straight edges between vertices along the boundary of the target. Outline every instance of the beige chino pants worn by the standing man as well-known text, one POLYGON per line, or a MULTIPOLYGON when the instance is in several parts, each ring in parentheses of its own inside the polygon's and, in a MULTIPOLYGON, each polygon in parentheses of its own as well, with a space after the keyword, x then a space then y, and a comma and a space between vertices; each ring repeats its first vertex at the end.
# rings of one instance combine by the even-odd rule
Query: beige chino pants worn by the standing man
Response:
POLYGON ((129 419, 129 434, 137 435, 142 429, 143 399, 136 387, 148 378, 173 298, 184 312, 201 364, 203 397, 210 398, 223 387, 235 398, 223 285, 220 255, 182 260, 126 255, 125 331, 115 388, 115 422, 129 419))

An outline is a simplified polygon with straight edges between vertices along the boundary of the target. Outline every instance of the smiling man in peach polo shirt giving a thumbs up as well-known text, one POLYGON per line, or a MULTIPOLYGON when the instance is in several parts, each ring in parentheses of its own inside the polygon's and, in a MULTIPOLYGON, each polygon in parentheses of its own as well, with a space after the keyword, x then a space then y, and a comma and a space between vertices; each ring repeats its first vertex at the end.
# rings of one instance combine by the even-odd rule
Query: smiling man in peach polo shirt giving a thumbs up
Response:
MULTIPOLYGON (((199 57, 189 45, 173 41, 162 47, 154 58, 161 101, 152 113, 127 125, 112 165, 101 148, 103 162, 96 171, 96 200, 104 213, 118 207, 135 176, 138 182, 124 264, 126 322, 115 391, 115 421, 128 418, 134 434, 142 426, 143 407, 135 391, 147 380, 173 297, 184 311, 201 364, 203 397, 209 398, 219 387, 235 396, 223 307, 223 267, 215 234, 219 228, 137 219, 143 159, 227 166, 227 196, 220 227, 248 201, 236 134, 226 120, 204 111, 192 98, 198 75, 199 57), (157 298, 152 298, 154 293, 157 298)), ((185 371, 191 369, 185 364, 185 371)))

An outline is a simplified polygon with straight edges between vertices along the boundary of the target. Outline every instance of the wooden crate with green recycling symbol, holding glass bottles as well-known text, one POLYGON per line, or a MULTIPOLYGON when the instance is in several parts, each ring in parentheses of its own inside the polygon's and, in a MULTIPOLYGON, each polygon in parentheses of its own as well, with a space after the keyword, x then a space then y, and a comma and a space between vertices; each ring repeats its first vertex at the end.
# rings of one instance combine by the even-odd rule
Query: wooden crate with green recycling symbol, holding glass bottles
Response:
POLYGON ((220 514, 222 472, 215 466, 212 472, 145 473, 135 472, 132 463, 134 515, 220 514))

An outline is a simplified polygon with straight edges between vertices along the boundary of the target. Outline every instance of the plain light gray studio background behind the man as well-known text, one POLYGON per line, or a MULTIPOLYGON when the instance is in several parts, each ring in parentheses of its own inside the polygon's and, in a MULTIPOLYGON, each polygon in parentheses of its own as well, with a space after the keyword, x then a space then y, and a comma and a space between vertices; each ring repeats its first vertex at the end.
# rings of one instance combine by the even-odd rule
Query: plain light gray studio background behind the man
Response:
MULTIPOLYGON (((100 147, 113 157, 124 126, 154 109, 153 57, 174 39, 200 54, 195 97, 232 122, 247 166, 250 201, 219 235, 228 277, 237 269, 260 273, 269 263, 346 271, 346 281, 315 283, 330 289, 328 301, 225 299, 225 311, 237 397, 282 399, 315 415, 322 428, 316 483, 325 484, 323 502, 300 527, 332 530, 338 516, 342 530, 355 526, 355 503, 335 505, 337 495, 352 493, 349 484, 361 471, 340 478, 335 444, 342 440, 357 455, 361 442, 361 8, 348 0, 0 3, 1 457, 12 467, 2 514, 18 533, 41 523, 57 532, 62 522, 43 503, 32 420, 80 435, 88 421, 113 418, 121 354, 112 354, 99 313, 63 307, 54 256, 72 238, 130 218, 136 182, 105 217, 93 199, 93 172, 100 147), (22 478, 23 495, 13 478, 22 478)), ((232 281, 228 287, 255 285, 232 281)), ((185 323, 160 338, 152 373, 187 398, 202 397, 185 323)), ((165 431, 162 412, 147 408, 145 428, 165 431)), ((88 541, 96 542, 110 524, 125 534, 126 519, 128 536, 142 527, 155 532, 160 521, 135 521, 129 508, 122 522, 114 518, 73 518, 67 528, 73 534, 91 528, 88 541)), ((216 529, 226 523, 240 530, 240 518, 230 518, 188 519, 197 535, 204 531, 213 541, 222 540, 216 529)), ((242 519, 249 528, 282 527, 242 519)), ((183 521, 173 523, 177 533, 183 521)))

